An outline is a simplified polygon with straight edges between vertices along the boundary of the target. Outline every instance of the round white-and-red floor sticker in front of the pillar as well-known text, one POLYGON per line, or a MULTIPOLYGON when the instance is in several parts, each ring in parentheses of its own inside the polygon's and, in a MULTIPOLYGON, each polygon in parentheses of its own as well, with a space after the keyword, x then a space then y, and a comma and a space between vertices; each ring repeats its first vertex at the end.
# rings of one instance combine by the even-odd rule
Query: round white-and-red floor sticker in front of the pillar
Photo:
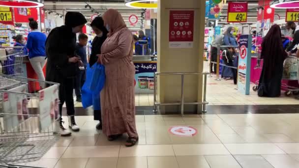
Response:
POLYGON ((173 126, 168 131, 180 137, 193 137, 197 134, 197 130, 189 126, 173 126))

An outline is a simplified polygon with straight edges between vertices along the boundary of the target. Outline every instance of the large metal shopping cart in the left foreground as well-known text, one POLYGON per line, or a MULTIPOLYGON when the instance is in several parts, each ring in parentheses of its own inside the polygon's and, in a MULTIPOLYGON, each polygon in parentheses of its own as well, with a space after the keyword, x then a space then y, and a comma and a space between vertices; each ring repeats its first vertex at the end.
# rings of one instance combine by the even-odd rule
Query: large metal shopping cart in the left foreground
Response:
POLYGON ((38 161, 59 139, 59 84, 29 93, 24 81, 43 82, 0 74, 0 168, 38 161))

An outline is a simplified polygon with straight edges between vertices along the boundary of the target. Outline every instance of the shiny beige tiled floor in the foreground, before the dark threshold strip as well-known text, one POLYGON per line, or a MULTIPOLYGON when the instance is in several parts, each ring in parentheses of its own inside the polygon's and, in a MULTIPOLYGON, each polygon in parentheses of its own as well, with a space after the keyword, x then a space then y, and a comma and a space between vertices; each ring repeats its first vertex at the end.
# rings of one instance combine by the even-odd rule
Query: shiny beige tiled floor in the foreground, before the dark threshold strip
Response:
MULTIPOLYGON (((299 168, 299 114, 137 115, 139 143, 123 146, 76 117, 80 132, 60 138, 31 166, 47 168, 299 168), (169 133, 192 126, 193 137, 169 133)), ((65 122, 67 124, 67 122, 65 122)))

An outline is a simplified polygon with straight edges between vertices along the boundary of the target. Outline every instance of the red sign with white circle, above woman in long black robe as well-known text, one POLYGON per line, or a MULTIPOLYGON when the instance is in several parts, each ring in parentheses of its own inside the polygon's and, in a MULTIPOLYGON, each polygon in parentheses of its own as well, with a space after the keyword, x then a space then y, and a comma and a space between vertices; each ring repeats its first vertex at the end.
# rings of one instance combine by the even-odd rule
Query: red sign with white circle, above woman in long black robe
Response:
POLYGON ((260 0, 258 8, 258 21, 270 19, 270 22, 274 21, 275 9, 270 7, 271 0, 260 0))

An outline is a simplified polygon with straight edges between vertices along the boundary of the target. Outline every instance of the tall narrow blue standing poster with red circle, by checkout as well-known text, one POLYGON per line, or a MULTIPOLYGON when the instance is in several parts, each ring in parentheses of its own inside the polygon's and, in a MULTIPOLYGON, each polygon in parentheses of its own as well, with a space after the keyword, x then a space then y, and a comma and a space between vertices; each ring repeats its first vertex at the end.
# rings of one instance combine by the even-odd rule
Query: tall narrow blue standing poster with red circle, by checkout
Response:
POLYGON ((238 90, 245 95, 250 92, 251 35, 239 38, 238 90))

